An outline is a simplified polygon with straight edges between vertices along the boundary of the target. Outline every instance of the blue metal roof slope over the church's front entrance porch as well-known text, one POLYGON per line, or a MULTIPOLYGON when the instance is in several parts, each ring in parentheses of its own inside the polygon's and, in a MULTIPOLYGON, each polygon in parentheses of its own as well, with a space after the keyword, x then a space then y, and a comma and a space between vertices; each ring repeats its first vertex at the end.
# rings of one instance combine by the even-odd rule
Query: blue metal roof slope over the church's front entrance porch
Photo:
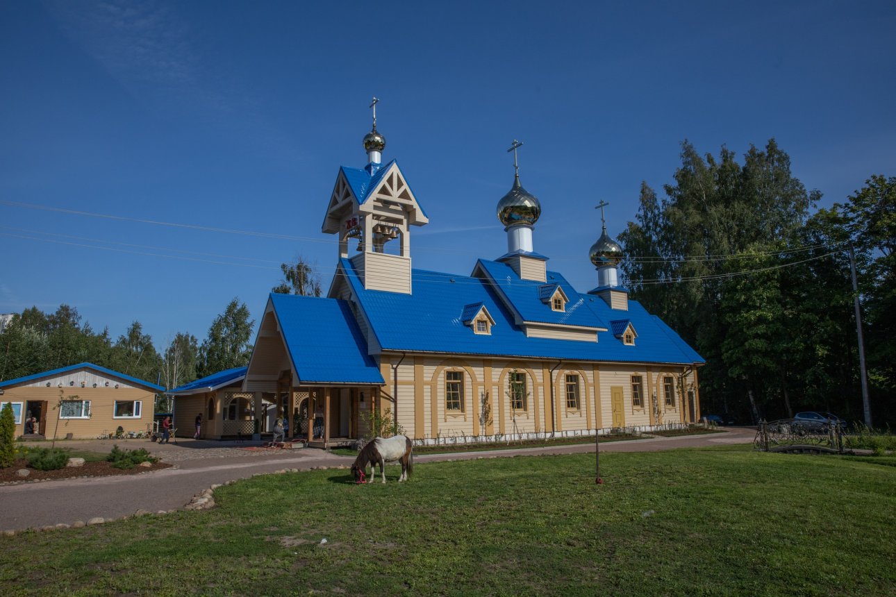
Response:
POLYGON ((384 383, 349 303, 294 294, 269 300, 299 382, 384 383))

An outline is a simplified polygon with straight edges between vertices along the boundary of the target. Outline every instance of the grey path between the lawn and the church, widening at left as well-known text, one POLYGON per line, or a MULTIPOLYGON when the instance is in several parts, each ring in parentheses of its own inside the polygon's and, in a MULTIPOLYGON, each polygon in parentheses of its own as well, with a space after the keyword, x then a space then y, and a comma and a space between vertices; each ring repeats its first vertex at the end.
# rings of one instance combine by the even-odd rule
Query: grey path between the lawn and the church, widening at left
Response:
MULTIPOLYGON (((755 431, 730 428, 720 433, 678 438, 615 441, 601 445, 601 452, 640 452, 750 443, 755 431)), ((133 440, 132 440, 133 441, 133 440)), ((121 443, 121 442, 119 442, 121 443)), ((130 443, 130 442, 128 442, 130 443)), ((0 487, 0 531, 22 530, 65 523, 73 524, 101 516, 105 519, 132 516, 138 509, 158 512, 184 507, 190 499, 212 484, 245 479, 255 473, 272 473, 283 468, 308 470, 315 466, 350 465, 350 456, 335 456, 320 449, 294 451, 243 449, 243 445, 222 442, 181 440, 179 444, 151 445, 151 452, 173 462, 174 468, 154 473, 67 479, 62 481, 22 483, 0 487)), ((66 443, 66 447, 69 444, 66 443)), ((71 446, 75 447, 75 446, 71 446)), ((104 451, 111 449, 98 442, 82 442, 77 448, 104 451)), ((125 447, 125 446, 123 446, 125 447)), ((140 446, 146 447, 145 442, 140 446)), ((509 457, 537 454, 575 454, 594 450, 591 444, 554 448, 523 448, 431 454, 415 456, 418 463, 440 460, 509 457)))

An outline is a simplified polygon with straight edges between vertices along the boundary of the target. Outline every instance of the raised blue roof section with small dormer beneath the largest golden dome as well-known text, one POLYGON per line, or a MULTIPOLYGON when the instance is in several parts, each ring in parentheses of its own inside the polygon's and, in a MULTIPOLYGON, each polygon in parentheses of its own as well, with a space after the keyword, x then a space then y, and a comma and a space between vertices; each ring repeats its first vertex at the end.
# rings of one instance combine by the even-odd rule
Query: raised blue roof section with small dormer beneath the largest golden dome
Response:
MULTIPOLYGON (((498 292, 504 296, 506 303, 512 305, 513 310, 523 321, 586 328, 607 327, 592 311, 585 308, 584 298, 556 271, 547 272, 547 283, 563 288, 564 294, 569 299, 564 311, 554 311, 550 305, 542 302, 540 293, 541 287, 546 286, 544 282, 521 279, 513 268, 499 261, 478 260, 478 265, 494 280, 498 292)), ((414 280, 414 284, 417 284, 417 280, 414 280)))

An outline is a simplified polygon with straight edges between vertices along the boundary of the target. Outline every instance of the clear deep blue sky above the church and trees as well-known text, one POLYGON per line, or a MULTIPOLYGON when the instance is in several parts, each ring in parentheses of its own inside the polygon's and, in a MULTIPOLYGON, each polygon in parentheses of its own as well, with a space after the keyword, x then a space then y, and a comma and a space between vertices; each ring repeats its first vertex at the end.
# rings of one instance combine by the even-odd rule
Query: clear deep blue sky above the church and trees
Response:
POLYGON ((617 235, 685 139, 774 137, 824 205, 896 174, 894 30, 892 2, 2 2, 0 312, 68 303, 161 346, 235 296, 257 319, 299 254, 327 286, 372 96, 430 219, 414 267, 505 252, 520 139, 535 250, 586 290, 593 206, 617 235))

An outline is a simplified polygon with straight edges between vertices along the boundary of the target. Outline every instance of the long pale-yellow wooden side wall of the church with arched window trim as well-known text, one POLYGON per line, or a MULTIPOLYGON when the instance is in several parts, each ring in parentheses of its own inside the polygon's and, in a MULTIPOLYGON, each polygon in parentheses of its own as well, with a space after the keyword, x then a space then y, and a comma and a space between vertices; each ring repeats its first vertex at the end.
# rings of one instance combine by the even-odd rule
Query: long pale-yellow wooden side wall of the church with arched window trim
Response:
MULTIPOLYGON (((401 355, 394 354, 382 357, 381 372, 386 380, 383 397, 392 397, 394 393, 392 367, 400 359, 401 355)), ((665 405, 662 393, 662 377, 673 373, 677 376, 687 369, 685 367, 564 362, 556 368, 556 364, 556 361, 407 355, 398 366, 399 423, 415 439, 511 434, 513 414, 507 382, 508 373, 514 369, 526 373, 528 392, 528 408, 515 416, 516 430, 520 433, 559 431, 574 434, 609 428, 612 425, 610 396, 614 387, 623 391, 625 426, 685 422, 686 396, 679 396, 680 390, 676 387, 676 405, 669 407, 665 405), (445 371, 464 373, 464 409, 461 413, 445 409, 445 371), (579 376, 577 409, 566 405, 567 374, 579 376), (641 407, 633 405, 632 375, 642 376, 641 407), (553 395, 548 381, 552 379, 553 395), (659 418, 654 415, 650 403, 655 388, 659 418)), ((393 405, 383 400, 383 407, 393 408, 393 405)), ((697 408, 699 411, 699 400, 697 408)))

